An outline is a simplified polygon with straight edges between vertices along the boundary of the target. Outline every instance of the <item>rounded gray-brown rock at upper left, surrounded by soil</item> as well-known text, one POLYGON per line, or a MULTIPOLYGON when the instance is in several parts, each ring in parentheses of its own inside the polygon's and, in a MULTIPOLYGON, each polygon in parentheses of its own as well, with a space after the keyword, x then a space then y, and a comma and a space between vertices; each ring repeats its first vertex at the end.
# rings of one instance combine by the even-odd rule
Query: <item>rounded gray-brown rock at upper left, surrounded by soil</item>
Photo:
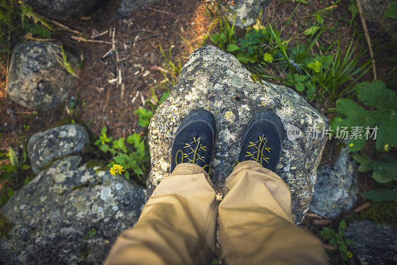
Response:
MULTIPOLYGON (((77 59, 66 52, 67 61, 77 68, 77 59)), ((15 47, 9 67, 7 91, 16 103, 47 111, 63 103, 75 77, 61 65, 60 44, 27 41, 15 47)))

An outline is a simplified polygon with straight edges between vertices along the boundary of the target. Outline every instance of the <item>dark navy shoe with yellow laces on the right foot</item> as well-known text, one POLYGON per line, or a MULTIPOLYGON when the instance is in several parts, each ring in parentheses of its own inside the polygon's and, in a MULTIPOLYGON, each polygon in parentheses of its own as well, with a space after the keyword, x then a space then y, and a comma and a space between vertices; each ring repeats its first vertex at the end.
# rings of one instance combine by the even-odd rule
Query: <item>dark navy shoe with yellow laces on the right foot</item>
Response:
POLYGON ((274 171, 281 155, 284 135, 280 118, 272 111, 257 113, 248 124, 238 162, 256 161, 274 171))

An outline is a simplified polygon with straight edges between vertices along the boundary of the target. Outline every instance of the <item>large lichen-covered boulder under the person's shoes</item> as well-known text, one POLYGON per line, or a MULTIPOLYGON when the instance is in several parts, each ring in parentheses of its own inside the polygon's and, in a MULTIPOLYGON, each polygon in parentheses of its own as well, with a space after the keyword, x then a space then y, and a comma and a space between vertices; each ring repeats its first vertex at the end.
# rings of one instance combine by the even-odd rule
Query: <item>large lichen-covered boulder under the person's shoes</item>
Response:
MULTIPOLYGON (((148 192, 170 173, 171 147, 185 116, 203 108, 216 120, 216 139, 211 161, 211 178, 218 198, 226 177, 238 159, 241 140, 251 118, 261 110, 275 112, 284 129, 295 126, 305 132, 322 132, 328 120, 292 89, 254 81, 251 73, 229 53, 205 46, 192 53, 168 98, 157 108, 149 125, 151 173, 148 192)), ((299 223, 312 201, 316 170, 326 139, 283 138, 277 173, 290 187, 292 212, 299 223)))

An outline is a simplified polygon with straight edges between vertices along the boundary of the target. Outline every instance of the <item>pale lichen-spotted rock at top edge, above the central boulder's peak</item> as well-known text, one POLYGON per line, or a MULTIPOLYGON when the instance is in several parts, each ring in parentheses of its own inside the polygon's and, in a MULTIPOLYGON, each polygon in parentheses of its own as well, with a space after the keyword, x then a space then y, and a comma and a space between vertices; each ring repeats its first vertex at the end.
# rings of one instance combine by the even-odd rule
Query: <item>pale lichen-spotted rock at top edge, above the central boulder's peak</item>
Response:
POLYGON ((234 5, 228 6, 229 12, 226 17, 230 23, 233 23, 236 16, 236 27, 252 26, 261 10, 264 10, 268 4, 269 0, 234 0, 234 5))

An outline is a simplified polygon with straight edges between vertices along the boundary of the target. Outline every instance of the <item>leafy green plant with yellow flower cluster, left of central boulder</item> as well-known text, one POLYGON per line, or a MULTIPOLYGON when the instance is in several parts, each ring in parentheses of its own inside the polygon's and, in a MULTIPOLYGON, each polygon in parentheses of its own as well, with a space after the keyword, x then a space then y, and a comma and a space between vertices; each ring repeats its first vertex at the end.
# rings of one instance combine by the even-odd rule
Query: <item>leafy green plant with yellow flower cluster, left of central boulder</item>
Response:
POLYGON ((135 173, 140 181, 144 183, 144 165, 149 161, 148 146, 145 146, 142 136, 138 133, 132 133, 126 138, 118 138, 113 140, 107 134, 106 126, 101 130, 101 136, 94 144, 105 154, 109 153, 110 158, 107 157, 109 163, 107 167, 113 175, 124 174, 127 179, 130 179, 130 173, 135 173))

